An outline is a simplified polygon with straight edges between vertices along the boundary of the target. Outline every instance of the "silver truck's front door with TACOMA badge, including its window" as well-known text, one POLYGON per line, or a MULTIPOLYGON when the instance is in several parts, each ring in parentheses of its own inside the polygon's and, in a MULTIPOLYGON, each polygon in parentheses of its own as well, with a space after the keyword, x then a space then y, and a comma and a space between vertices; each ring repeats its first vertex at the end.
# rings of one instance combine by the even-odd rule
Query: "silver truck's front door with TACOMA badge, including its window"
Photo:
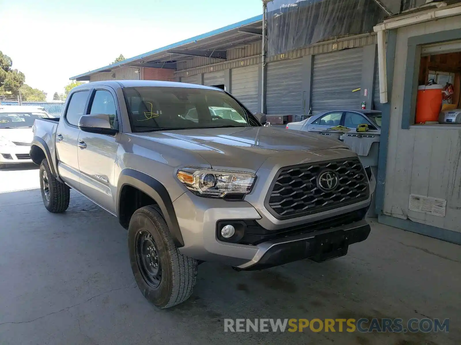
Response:
MULTIPOLYGON (((114 99, 117 98, 112 89, 96 88, 90 97, 87 113, 110 115, 112 128, 118 129, 118 107, 114 99)), ((81 131, 78 138, 80 190, 112 213, 116 212, 114 169, 119 135, 81 131)))

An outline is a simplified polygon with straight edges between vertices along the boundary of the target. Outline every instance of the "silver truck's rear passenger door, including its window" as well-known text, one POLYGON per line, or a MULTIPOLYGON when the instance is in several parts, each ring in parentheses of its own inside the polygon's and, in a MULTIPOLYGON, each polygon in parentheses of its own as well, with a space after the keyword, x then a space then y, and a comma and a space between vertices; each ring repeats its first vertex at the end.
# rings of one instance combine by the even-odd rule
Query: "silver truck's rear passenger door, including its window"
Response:
POLYGON ((56 129, 56 152, 59 176, 71 187, 79 190, 80 171, 78 167, 77 144, 80 129, 78 121, 85 113, 90 90, 73 92, 63 118, 56 129))

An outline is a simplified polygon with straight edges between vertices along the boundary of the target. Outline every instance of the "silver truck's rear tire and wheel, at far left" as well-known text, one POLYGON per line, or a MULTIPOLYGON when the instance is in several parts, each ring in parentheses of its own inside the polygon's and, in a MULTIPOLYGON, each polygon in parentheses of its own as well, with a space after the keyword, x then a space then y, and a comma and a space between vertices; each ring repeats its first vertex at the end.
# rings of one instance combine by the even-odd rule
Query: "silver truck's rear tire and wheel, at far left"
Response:
POLYGON ((46 209, 51 213, 67 210, 71 199, 70 188, 53 176, 46 158, 41 161, 39 174, 41 199, 46 209))

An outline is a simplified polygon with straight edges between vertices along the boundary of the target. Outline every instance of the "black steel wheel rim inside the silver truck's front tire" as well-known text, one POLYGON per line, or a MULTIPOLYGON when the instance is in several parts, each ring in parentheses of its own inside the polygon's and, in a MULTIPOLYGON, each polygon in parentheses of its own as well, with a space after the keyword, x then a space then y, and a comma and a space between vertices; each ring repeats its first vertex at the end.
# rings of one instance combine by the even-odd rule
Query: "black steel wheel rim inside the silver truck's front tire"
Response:
POLYGON ((152 235, 144 229, 136 236, 136 260, 142 278, 150 287, 157 288, 162 279, 159 250, 152 235))

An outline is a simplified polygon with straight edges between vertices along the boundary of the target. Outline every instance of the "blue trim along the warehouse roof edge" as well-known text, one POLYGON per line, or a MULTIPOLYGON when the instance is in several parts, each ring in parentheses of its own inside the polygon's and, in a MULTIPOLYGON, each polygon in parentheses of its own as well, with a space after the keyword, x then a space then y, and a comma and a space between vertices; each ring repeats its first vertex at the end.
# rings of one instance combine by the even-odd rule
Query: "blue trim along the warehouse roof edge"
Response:
POLYGON ((204 39, 204 38, 208 38, 208 37, 211 37, 211 36, 213 36, 213 35, 221 34, 221 33, 223 33, 223 32, 226 32, 226 31, 229 31, 229 30, 232 30, 232 29, 237 29, 237 28, 239 28, 239 27, 241 27, 241 26, 243 26, 243 25, 248 25, 248 24, 256 23, 256 22, 259 22, 260 20, 262 20, 262 14, 260 14, 259 16, 256 16, 256 17, 251 17, 251 18, 242 20, 241 22, 238 22, 238 23, 233 23, 233 24, 227 25, 227 26, 225 26, 224 28, 216 29, 216 30, 207 32, 207 33, 205 33, 205 34, 201 34, 201 35, 198 35, 198 36, 195 36, 195 37, 188 38, 188 39, 186 39, 186 40, 182 40, 182 41, 179 41, 179 42, 170 44, 169 46, 164 46, 164 47, 155 49, 155 50, 153 50, 153 51, 150 51, 150 52, 147 52, 147 53, 143 53, 143 54, 141 54, 141 55, 137 55, 137 56, 135 56, 135 57, 130 57, 129 59, 125 59, 125 60, 123 60, 123 61, 121 61, 121 62, 118 62, 118 63, 112 63, 112 65, 108 65, 108 66, 105 66, 105 67, 101 67, 101 68, 98 68, 98 69, 94 69, 94 70, 89 71, 89 72, 87 72, 87 73, 83 73, 83 74, 80 74, 80 75, 76 75, 76 76, 71 77, 71 78, 69 78, 69 79, 70 79, 70 80, 72 80, 72 79, 77 79, 77 78, 81 78, 81 77, 84 77, 84 76, 87 76, 87 75, 91 75, 91 74, 94 74, 94 73, 103 71, 103 70, 105 70, 105 69, 112 69, 112 68, 114 68, 114 67, 118 67, 118 66, 124 65, 125 63, 129 63, 129 62, 131 62, 131 61, 138 60, 138 59, 141 59, 141 58, 143 58, 143 57, 147 57, 147 56, 152 55, 152 54, 155 54, 155 53, 163 52, 164 50, 176 48, 176 47, 178 47, 178 46, 182 46, 183 44, 192 43, 192 42, 194 42, 194 41, 196 41, 196 40, 201 40, 201 39, 204 39))

